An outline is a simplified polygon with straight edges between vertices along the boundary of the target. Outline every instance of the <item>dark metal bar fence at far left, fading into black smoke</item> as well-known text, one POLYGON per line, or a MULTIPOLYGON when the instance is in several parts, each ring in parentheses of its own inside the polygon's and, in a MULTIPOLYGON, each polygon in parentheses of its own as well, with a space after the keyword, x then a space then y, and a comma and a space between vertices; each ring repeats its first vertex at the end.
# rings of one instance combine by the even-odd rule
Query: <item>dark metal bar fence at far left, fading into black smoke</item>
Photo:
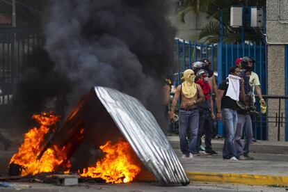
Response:
POLYGON ((37 47, 42 47, 40 31, 36 29, 0 28, 0 106, 12 102, 16 83, 24 71, 25 62, 37 47))

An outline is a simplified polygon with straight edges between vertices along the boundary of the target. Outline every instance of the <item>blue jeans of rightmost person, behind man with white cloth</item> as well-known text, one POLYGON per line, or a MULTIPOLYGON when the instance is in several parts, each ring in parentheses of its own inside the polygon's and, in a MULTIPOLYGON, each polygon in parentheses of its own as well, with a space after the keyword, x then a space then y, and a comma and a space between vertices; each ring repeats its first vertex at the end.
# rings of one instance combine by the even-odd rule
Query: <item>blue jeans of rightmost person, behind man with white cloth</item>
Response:
POLYGON ((249 147, 252 140, 253 140, 253 131, 252 131, 252 120, 250 115, 238 114, 237 129, 234 138, 234 147, 237 157, 239 157, 239 155, 241 154, 249 154, 249 147), (242 137, 243 128, 246 136, 244 147, 240 140, 242 137))

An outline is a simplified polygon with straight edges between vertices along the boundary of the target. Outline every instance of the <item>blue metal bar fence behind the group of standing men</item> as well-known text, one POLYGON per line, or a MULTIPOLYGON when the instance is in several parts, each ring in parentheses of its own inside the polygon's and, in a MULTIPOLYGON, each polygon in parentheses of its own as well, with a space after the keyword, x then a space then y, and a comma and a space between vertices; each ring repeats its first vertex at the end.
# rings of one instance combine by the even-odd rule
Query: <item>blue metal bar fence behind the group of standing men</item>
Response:
MULTIPOLYGON (((180 83, 181 72, 191 67, 191 63, 199 61, 202 58, 209 58, 211 68, 218 74, 218 83, 225 79, 228 75, 229 68, 234 66, 234 61, 243 56, 250 56, 255 59, 254 72, 259 76, 262 83, 262 94, 266 94, 267 90, 267 65, 266 65, 266 45, 262 43, 249 42, 249 44, 199 44, 185 40, 175 40, 177 47, 177 83, 180 83), (221 65, 219 65, 221 64, 221 65)), ((259 111, 259 100, 256 106, 259 111)), ((267 140, 267 117, 260 115, 259 118, 253 120, 254 136, 260 140, 267 140)), ((218 127, 218 133, 223 135, 223 127, 221 123, 218 127)))

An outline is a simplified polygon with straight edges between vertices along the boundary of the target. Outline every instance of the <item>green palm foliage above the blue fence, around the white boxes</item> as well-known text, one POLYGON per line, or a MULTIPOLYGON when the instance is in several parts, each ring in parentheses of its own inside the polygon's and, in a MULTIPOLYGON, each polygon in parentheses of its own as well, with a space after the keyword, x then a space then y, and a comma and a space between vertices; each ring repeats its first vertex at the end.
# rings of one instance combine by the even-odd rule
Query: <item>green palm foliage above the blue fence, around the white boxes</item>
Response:
MULTIPOLYGON (((236 43, 241 40, 241 29, 230 26, 231 6, 257 6, 266 7, 265 0, 239 1, 239 0, 180 0, 179 16, 184 21, 184 15, 189 11, 198 14, 207 13, 207 18, 214 18, 218 22, 209 22, 202 27, 198 40, 207 43, 218 42, 220 31, 220 11, 223 13, 223 42, 236 43)), ((261 29, 247 27, 245 29, 245 40, 262 40, 261 29)))

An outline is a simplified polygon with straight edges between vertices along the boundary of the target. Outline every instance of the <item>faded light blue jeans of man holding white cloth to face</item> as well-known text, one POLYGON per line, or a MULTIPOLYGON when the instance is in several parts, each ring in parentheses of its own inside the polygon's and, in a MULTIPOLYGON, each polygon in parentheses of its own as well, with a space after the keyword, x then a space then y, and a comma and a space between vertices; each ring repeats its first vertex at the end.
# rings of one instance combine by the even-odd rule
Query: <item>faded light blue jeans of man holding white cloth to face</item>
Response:
POLYGON ((233 109, 222 109, 223 126, 225 127, 225 141, 223 145, 223 159, 236 157, 234 150, 234 136, 237 128, 237 111, 233 109))

